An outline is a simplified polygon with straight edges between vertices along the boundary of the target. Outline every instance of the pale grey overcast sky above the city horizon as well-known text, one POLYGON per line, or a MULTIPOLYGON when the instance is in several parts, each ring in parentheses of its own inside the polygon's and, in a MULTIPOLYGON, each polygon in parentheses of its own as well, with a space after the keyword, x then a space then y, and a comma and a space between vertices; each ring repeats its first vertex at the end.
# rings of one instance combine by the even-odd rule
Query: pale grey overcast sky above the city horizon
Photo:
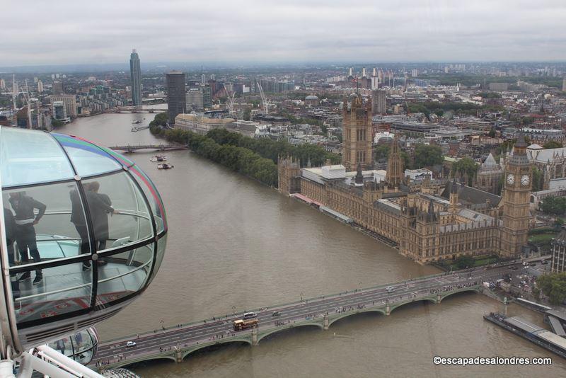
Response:
POLYGON ((566 0, 2 0, 0 66, 566 60, 566 0), (352 4, 352 5, 350 5, 352 4))

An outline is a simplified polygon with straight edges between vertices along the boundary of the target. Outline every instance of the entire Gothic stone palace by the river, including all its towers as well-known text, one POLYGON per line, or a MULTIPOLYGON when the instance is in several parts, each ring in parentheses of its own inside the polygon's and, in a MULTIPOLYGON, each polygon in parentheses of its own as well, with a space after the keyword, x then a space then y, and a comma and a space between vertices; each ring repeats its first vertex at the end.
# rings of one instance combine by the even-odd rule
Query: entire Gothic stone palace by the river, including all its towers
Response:
POLYGON ((395 137, 387 171, 372 168, 371 105, 361 96, 342 109, 342 164, 301 168, 278 162, 279 190, 347 217, 418 263, 461 255, 521 255, 529 231, 532 170, 524 138, 505 162, 502 196, 456 181, 410 183, 395 137))

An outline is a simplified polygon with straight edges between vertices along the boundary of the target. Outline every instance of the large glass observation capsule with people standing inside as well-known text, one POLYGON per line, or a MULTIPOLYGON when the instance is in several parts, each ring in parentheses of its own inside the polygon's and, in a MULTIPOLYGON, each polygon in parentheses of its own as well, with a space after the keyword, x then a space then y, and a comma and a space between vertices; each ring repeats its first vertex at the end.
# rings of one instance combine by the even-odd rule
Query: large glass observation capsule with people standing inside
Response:
POLYGON ((156 275, 163 202, 134 162, 64 134, 0 127, 0 326, 17 352, 116 314, 156 275))

